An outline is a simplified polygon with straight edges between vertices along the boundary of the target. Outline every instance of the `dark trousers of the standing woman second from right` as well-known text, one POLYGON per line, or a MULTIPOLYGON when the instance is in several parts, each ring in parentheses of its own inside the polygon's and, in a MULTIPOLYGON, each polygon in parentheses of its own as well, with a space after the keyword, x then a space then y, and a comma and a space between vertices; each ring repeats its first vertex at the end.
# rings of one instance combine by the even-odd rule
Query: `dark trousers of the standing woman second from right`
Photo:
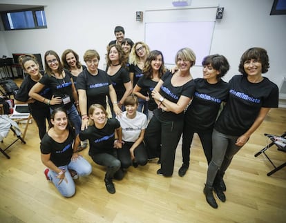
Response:
POLYGON ((184 125, 183 135, 182 135, 182 161, 184 166, 189 166, 190 162, 190 152, 191 152, 191 142, 193 141, 193 134, 198 133, 200 137, 200 142, 202 143, 202 148, 204 150, 204 155, 207 158, 207 164, 211 162, 212 156, 212 130, 209 131, 197 131, 193 130, 188 125, 184 125))

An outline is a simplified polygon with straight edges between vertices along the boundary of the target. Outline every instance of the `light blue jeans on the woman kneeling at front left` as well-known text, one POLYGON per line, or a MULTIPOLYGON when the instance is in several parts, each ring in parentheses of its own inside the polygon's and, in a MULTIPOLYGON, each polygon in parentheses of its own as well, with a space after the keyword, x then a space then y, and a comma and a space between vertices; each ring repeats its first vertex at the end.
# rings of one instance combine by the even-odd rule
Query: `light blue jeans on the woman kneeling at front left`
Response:
POLYGON ((70 172, 68 172, 68 169, 76 171, 80 177, 90 175, 92 171, 91 165, 82 156, 79 156, 76 160, 71 160, 66 166, 59 166, 59 168, 66 171, 64 175, 66 176, 67 182, 63 180, 61 184, 59 184, 59 178, 57 178, 58 174, 51 169, 48 172, 48 177, 50 177, 50 180, 53 181, 53 184, 59 193, 64 197, 72 197, 75 194, 75 182, 73 182, 73 178, 71 177, 70 172))

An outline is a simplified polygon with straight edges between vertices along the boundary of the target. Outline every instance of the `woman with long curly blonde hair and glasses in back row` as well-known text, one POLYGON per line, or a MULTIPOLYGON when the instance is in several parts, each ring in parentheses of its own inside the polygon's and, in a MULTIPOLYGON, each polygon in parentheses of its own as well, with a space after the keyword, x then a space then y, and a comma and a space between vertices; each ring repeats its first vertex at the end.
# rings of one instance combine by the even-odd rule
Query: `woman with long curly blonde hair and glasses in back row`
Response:
MULTIPOLYGON (((133 87, 135 87, 140 77, 143 76, 142 70, 144 68, 144 64, 147 56, 149 55, 149 52, 149 46, 142 41, 135 43, 131 49, 131 53, 129 55, 129 74, 131 82, 133 83, 133 87)), ((146 98, 148 97, 146 90, 142 89, 140 93, 142 93, 142 95, 144 95, 146 98)), ((143 112, 148 117, 148 101, 139 99, 137 110, 143 112)))

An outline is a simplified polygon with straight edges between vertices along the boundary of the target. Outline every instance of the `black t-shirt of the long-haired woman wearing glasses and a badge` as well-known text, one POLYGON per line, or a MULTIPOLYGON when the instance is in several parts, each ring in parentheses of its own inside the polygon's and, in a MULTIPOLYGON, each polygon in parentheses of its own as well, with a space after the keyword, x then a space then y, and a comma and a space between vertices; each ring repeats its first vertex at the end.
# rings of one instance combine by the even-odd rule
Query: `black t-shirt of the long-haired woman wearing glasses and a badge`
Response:
POLYGON ((61 97, 64 99, 66 97, 70 97, 70 102, 64 104, 55 104, 50 105, 51 108, 55 109, 57 107, 64 106, 66 110, 68 110, 71 106, 73 106, 74 98, 73 98, 73 88, 72 88, 72 77, 68 70, 64 70, 65 76, 63 79, 57 79, 55 76, 50 76, 45 74, 40 80, 39 83, 44 84, 50 88, 50 92, 55 97, 61 97))

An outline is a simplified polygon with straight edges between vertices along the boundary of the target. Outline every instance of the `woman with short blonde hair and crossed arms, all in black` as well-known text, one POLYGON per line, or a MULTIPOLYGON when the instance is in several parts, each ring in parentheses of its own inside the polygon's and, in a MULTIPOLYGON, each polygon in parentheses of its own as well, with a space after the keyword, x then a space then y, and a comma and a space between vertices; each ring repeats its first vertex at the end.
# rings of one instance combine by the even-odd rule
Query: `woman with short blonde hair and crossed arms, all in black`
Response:
POLYGON ((160 157, 161 168, 157 174, 166 177, 173 174, 175 149, 183 130, 184 109, 195 90, 190 68, 196 63, 196 55, 190 48, 182 48, 175 56, 175 63, 179 70, 173 75, 166 72, 152 91, 158 108, 154 110, 144 137, 149 159, 160 157))

